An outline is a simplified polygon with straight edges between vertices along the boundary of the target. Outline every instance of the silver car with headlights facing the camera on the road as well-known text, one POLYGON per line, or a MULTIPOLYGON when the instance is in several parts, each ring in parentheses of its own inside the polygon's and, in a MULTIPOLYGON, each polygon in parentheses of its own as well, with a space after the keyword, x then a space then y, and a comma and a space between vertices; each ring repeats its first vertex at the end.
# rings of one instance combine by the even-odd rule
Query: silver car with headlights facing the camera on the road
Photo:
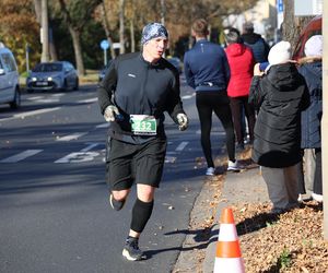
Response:
POLYGON ((79 88, 77 70, 68 61, 38 63, 26 79, 27 92, 68 88, 79 88))

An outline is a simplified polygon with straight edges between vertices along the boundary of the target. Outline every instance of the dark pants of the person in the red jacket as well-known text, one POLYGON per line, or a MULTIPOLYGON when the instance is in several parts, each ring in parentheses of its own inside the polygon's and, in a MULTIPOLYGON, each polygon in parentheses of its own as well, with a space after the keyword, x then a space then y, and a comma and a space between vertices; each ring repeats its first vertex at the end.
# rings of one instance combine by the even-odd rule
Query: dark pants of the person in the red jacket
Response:
POLYGON ((243 133, 243 121, 241 119, 243 108, 245 110, 245 116, 248 123, 248 133, 250 143, 254 141, 254 126, 255 126, 255 109, 248 104, 248 96, 242 97, 230 97, 230 105, 232 110, 232 116, 234 120, 235 132, 237 136, 237 143, 244 144, 244 133, 243 133))

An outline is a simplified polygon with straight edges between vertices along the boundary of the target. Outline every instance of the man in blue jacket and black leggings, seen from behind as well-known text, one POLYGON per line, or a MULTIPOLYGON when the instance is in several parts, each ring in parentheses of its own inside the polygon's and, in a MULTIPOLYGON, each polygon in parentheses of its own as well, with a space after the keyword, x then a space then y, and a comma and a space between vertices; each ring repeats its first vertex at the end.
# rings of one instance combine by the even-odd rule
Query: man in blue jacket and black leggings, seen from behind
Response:
POLYGON ((230 69, 223 48, 207 39, 208 23, 198 19, 191 26, 196 44, 185 55, 184 66, 188 85, 196 90, 196 106, 200 120, 201 146, 207 159, 206 175, 215 173, 211 149, 212 112, 221 120, 226 133, 227 170, 238 170, 235 158, 235 134, 226 87, 230 69))

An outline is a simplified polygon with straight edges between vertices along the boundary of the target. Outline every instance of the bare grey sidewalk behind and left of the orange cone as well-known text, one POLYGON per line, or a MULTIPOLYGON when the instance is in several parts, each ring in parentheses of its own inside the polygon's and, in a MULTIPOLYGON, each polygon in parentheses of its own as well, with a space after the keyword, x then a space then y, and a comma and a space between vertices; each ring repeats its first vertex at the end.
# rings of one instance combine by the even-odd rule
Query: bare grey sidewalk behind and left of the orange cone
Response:
POLYGON ((215 261, 215 248, 219 235, 220 215, 223 207, 236 202, 258 203, 269 201, 267 186, 259 174, 259 168, 247 169, 241 173, 227 173, 222 189, 222 199, 216 209, 216 215, 207 247, 206 259, 203 261, 203 273, 212 273, 215 261))

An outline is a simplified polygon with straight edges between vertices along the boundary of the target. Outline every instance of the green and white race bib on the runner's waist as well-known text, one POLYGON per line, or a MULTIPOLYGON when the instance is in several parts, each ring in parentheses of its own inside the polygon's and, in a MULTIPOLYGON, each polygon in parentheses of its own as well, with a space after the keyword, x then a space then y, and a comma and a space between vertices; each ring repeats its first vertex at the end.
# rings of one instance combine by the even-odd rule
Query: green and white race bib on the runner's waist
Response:
POLYGON ((138 135, 155 135, 156 119, 148 115, 130 115, 131 131, 138 135))

